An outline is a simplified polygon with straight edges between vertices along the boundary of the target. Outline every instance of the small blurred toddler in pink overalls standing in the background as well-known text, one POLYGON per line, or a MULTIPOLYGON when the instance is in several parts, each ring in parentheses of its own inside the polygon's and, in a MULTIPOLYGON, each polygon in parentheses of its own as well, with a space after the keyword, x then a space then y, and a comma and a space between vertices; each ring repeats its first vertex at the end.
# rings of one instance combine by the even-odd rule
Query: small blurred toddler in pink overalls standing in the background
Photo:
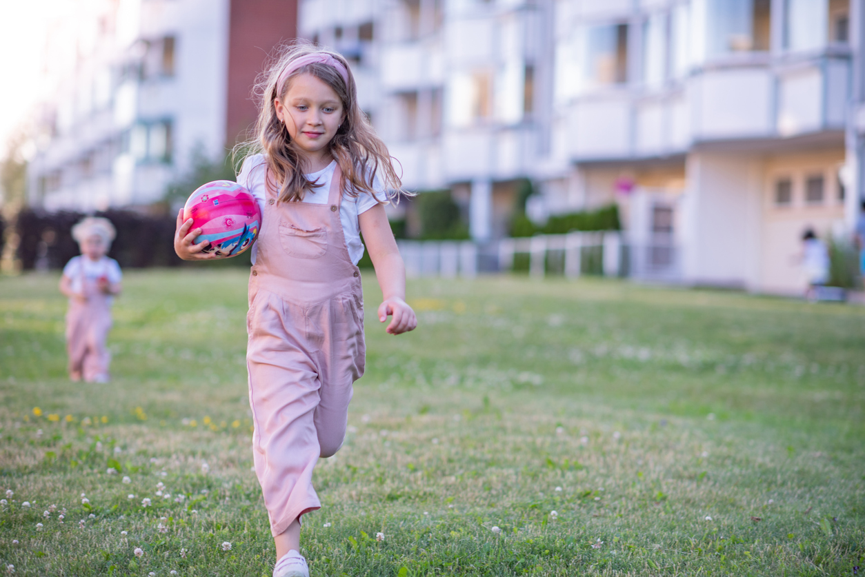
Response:
POLYGON ((106 218, 88 216, 72 228, 81 255, 63 267, 60 291, 69 298, 66 347, 69 378, 108 381, 111 354, 106 338, 111 330, 113 296, 120 292, 122 273, 117 260, 106 257, 114 240, 114 226, 106 218))

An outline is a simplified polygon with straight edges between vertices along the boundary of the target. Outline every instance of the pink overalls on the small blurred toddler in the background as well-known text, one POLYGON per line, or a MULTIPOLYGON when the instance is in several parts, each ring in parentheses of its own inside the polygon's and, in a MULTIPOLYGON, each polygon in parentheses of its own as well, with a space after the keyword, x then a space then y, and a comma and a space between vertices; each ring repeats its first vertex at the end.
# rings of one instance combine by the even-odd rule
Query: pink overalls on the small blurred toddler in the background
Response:
MULTIPOLYGON (((81 257, 82 259, 85 257, 81 257)), ((86 302, 69 299, 66 315, 66 350, 69 374, 79 373, 85 381, 107 380, 111 353, 106 347, 111 330, 111 297, 99 290, 80 267, 81 292, 86 302)))

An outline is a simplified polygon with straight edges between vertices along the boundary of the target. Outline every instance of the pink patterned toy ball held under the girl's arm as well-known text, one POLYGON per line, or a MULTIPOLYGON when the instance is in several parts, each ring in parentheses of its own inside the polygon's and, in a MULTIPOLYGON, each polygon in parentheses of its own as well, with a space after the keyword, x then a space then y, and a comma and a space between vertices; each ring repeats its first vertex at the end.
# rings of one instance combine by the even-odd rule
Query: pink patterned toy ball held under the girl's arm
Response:
POLYGON ((195 244, 209 240, 205 253, 221 259, 237 256, 251 247, 261 229, 261 209, 249 191, 238 183, 216 180, 189 196, 183 220, 192 217, 192 227, 201 228, 195 244))

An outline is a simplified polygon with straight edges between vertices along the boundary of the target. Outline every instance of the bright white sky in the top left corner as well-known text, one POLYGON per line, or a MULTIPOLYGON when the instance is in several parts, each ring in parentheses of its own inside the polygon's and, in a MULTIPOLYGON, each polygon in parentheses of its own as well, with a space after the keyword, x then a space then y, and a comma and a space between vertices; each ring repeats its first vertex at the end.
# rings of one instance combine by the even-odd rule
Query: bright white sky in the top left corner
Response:
POLYGON ((44 90, 40 74, 47 23, 79 0, 0 2, 0 157, 13 131, 28 118, 44 90))

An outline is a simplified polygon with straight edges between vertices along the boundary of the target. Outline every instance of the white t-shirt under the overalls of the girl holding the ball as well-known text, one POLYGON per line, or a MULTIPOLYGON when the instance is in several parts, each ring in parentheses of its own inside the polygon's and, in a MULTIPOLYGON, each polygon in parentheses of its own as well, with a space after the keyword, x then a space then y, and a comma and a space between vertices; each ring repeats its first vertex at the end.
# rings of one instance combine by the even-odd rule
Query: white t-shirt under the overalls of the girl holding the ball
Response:
MULTIPOLYGON (((240 168, 240 174, 237 175, 237 183, 247 187, 253 194, 255 200, 259 202, 261 214, 265 214, 266 204, 266 189, 265 189, 265 174, 266 174, 265 157, 256 154, 252 157, 247 157, 243 161, 243 167, 240 168)), ((333 180, 333 173, 336 170, 336 160, 331 161, 324 169, 318 170, 311 174, 305 175, 311 182, 318 182, 319 185, 312 189, 312 192, 307 191, 304 194, 303 202, 311 204, 327 204, 327 198, 330 194, 330 182, 333 180)), ((373 189, 375 190, 376 198, 381 201, 387 200, 387 194, 384 187, 381 186, 381 181, 376 177, 373 181, 373 189)), ((343 235, 345 235, 345 245, 349 249, 349 257, 354 264, 357 264, 363 256, 363 243, 361 242, 361 225, 357 221, 357 216, 362 215, 370 208, 373 208, 378 202, 375 198, 365 192, 360 193, 356 197, 343 195, 343 202, 339 205, 339 220, 343 223, 343 235)), ((253 245, 252 259, 255 264, 255 245, 253 245)))

